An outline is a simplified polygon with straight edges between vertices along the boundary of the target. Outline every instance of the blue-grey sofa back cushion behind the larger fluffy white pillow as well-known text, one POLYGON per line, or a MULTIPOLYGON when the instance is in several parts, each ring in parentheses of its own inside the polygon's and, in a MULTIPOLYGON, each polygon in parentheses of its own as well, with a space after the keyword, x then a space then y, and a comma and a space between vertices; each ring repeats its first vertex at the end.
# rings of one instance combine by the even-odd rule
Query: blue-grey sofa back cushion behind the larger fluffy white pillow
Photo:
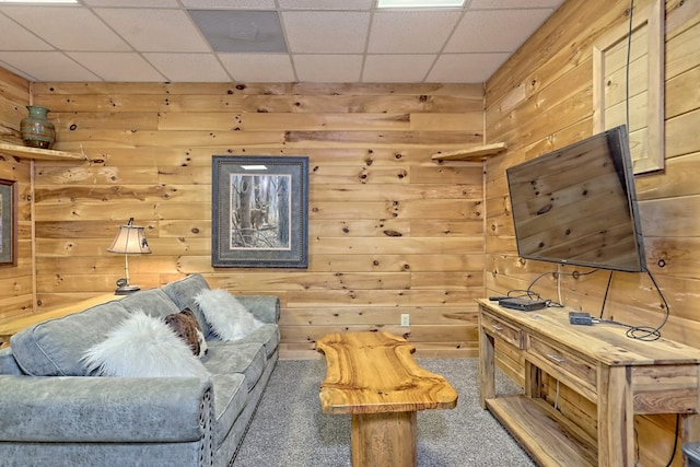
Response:
POLYGON ((33 376, 85 376, 85 350, 129 316, 120 301, 107 302, 21 330, 10 340, 22 371, 33 376))

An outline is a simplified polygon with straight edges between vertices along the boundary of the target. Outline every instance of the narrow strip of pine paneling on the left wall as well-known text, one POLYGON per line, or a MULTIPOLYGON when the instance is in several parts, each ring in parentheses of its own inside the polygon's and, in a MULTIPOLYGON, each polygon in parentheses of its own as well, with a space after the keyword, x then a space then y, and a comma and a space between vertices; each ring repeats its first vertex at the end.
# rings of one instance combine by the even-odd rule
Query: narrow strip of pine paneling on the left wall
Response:
MULTIPOLYGON (((21 144, 30 83, 0 68, 0 141, 21 144)), ((0 320, 34 312, 31 164, 0 154, 0 178, 18 182, 18 264, 0 266, 0 320)))

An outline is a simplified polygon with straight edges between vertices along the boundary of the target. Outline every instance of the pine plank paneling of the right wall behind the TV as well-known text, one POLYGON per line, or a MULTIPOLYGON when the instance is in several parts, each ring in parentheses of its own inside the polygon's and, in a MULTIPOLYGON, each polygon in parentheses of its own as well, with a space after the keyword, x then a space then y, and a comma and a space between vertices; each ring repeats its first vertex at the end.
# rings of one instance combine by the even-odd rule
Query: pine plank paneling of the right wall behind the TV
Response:
MULTIPOLYGON (((635 0, 635 10, 651 0, 635 0)), ((505 168, 592 135, 592 45, 612 27, 626 24, 628 0, 569 0, 535 33, 486 85, 487 142, 504 141, 509 151, 486 164, 487 294, 535 288, 559 300, 557 267, 517 257, 510 215, 505 168)), ((700 312, 700 5, 667 0, 665 59, 666 168, 635 180, 646 261, 668 301, 670 318, 664 337, 697 346, 700 312)), ((590 272, 562 267, 561 272, 590 272)), ((609 273, 563 277, 561 300, 568 306, 600 313, 609 273)), ((606 317, 655 327, 665 310, 646 275, 614 273, 604 311, 606 317)), ((501 352, 501 366, 522 378, 522 362, 501 352)), ((548 399, 594 433, 595 407, 575 393, 545 381, 548 399)), ((674 417, 635 417, 639 465, 666 465, 674 446, 674 417)), ((674 466, 682 465, 680 445, 674 466)))

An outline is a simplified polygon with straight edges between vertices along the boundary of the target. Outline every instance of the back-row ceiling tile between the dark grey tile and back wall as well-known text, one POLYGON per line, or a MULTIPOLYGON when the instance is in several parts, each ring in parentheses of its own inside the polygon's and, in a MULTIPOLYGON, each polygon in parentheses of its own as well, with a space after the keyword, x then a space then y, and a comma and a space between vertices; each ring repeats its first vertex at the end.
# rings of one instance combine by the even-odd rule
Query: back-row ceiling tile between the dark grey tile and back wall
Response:
POLYGON ((219 54, 219 60, 234 81, 294 82, 288 54, 219 54))

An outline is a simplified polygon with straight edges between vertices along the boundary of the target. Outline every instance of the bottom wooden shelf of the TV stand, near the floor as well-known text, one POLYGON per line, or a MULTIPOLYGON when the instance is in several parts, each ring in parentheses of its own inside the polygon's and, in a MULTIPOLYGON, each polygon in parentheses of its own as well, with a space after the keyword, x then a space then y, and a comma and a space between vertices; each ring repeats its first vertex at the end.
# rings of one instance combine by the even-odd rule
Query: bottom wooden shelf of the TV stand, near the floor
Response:
POLYGON ((538 465, 598 465, 595 440, 545 400, 508 396, 486 404, 538 465))

